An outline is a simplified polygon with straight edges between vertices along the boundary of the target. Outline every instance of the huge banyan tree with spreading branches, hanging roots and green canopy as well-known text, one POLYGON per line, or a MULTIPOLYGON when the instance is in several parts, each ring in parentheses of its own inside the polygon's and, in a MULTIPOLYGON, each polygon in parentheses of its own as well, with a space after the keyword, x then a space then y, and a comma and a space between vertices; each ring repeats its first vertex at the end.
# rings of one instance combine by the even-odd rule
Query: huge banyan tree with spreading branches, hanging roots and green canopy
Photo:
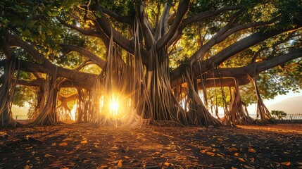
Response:
POLYGON ((0 125, 26 87, 32 125, 270 123, 263 97, 302 87, 301 4, 1 2, 0 125))

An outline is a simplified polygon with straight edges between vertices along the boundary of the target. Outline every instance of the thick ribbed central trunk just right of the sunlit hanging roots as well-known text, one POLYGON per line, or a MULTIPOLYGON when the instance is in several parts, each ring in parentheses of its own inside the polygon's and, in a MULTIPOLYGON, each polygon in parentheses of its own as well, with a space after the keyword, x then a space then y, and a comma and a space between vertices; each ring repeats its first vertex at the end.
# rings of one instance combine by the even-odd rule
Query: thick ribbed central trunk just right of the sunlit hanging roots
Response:
MULTIPOLYGON (((171 121, 185 124, 175 114, 178 107, 175 106, 175 98, 170 87, 168 54, 165 49, 156 51, 156 46, 151 49, 149 67, 146 75, 146 90, 151 101, 152 111, 148 115, 152 120, 171 121)), ((147 113, 148 114, 148 113, 147 113)))

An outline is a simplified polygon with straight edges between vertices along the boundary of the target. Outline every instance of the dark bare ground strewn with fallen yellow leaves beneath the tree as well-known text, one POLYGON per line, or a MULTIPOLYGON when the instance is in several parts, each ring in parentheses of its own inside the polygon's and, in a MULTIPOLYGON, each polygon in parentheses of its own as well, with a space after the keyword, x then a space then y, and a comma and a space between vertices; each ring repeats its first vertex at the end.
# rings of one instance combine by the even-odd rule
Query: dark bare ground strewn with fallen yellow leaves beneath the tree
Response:
POLYGON ((302 124, 0 131, 0 168, 302 168, 302 124))

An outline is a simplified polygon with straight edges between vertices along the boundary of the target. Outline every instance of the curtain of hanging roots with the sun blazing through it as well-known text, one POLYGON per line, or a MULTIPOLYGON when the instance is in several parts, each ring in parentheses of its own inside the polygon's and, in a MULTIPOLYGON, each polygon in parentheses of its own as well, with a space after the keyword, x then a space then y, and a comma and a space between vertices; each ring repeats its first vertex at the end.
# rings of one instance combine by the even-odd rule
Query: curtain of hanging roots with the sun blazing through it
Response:
MULTIPOLYGON (((137 32, 138 33, 138 32, 137 32)), ((138 40, 138 37, 135 39, 138 40)), ((137 44, 137 43, 136 43, 137 44)), ((139 49, 137 49, 139 53, 139 49)), ((119 46, 113 44, 111 35, 107 62, 94 84, 92 112, 101 126, 137 127, 146 125, 144 111, 151 110, 144 88, 144 67, 141 56, 127 54, 123 61, 119 46), (101 83, 101 77, 103 82, 101 83), (143 103, 143 104, 141 104, 143 103), (115 105, 118 104, 118 105, 115 105)))

